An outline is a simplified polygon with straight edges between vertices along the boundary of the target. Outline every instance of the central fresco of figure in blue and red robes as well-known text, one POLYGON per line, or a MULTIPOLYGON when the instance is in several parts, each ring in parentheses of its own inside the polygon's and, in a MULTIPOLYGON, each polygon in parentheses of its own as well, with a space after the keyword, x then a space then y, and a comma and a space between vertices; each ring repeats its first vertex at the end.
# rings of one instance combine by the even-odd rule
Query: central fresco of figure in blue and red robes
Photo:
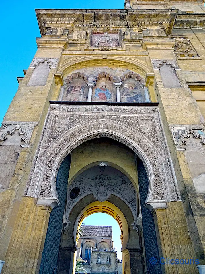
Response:
POLYGON ((92 101, 116 102, 116 91, 111 81, 106 78, 97 81, 93 88, 92 101))

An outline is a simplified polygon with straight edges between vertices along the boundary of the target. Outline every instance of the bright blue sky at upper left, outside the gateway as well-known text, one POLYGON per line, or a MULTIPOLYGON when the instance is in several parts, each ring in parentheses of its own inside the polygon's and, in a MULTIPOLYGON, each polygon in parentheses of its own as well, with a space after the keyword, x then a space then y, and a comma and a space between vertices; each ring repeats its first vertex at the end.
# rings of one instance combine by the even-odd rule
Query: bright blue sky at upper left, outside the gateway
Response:
POLYGON ((124 0, 3 1, 0 18, 0 123, 18 89, 17 76, 30 65, 40 37, 35 9, 123 9, 124 0))

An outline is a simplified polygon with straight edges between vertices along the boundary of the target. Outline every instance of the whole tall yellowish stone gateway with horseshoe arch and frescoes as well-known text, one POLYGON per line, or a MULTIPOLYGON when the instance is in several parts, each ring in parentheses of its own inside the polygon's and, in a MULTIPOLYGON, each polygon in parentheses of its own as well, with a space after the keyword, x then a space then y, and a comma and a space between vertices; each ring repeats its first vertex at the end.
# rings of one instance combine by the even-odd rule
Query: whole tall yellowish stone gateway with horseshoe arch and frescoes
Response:
POLYGON ((75 274, 82 252, 93 274, 198 273, 162 257, 202 271, 204 0, 36 15, 38 50, 0 131, 1 273, 75 274), (118 222, 122 262, 110 236, 81 246, 96 212, 118 222))

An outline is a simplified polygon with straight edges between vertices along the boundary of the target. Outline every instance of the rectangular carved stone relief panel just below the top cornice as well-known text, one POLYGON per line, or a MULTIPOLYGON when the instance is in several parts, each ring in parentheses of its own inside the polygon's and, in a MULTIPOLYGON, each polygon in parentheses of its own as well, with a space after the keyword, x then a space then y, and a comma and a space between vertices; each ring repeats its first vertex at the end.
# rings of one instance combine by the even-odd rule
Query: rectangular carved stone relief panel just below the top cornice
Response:
POLYGON ((110 46, 117 47, 119 45, 118 34, 108 34, 107 32, 101 34, 93 34, 91 40, 92 46, 110 46))

